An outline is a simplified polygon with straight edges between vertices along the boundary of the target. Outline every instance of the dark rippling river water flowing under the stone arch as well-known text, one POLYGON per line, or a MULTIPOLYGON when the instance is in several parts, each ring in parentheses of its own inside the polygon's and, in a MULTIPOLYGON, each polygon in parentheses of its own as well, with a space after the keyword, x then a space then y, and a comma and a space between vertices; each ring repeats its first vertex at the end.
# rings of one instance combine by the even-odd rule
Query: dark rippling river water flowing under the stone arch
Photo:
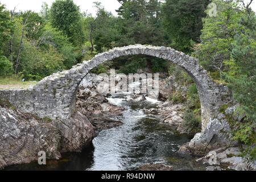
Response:
POLYGON ((80 153, 63 154, 60 160, 19 164, 6 170, 136 170, 143 164, 161 163, 174 170, 205 170, 196 157, 178 154, 179 147, 189 142, 187 135, 176 134, 158 118, 148 117, 143 108, 156 106, 155 100, 127 102, 122 98, 108 98, 114 105, 125 107, 123 125, 102 130, 92 144, 80 153))

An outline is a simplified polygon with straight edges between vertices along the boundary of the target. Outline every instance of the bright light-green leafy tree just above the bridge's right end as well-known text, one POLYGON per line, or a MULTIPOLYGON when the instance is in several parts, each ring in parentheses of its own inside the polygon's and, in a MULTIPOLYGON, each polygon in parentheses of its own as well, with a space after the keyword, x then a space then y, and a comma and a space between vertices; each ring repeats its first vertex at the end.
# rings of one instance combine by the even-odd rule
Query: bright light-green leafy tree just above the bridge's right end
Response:
POLYGON ((233 37, 237 31, 243 31, 238 23, 242 13, 234 10, 234 2, 222 0, 212 1, 218 7, 216 16, 209 15, 203 19, 204 28, 200 36, 201 44, 195 47, 194 55, 208 71, 226 69, 224 62, 230 59, 233 37), (236 30, 236 31, 234 31, 236 30))

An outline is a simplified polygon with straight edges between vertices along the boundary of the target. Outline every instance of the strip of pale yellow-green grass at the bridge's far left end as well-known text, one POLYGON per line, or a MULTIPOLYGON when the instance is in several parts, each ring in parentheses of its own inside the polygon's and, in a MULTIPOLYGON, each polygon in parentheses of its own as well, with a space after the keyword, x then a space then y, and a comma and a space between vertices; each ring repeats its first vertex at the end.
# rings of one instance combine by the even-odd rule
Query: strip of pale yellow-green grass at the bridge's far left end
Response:
POLYGON ((0 77, 0 90, 27 89, 36 85, 35 81, 24 81, 19 77, 0 77))

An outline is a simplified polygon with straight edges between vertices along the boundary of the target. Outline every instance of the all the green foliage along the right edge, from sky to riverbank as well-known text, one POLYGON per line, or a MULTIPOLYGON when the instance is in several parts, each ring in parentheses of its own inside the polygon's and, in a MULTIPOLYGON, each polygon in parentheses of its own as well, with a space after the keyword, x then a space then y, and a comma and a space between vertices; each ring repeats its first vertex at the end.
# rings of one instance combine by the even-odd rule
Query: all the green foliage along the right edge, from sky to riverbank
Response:
MULTIPOLYGON (((201 44, 195 47, 194 55, 217 83, 225 82, 232 90, 240 104, 239 113, 246 115, 242 122, 229 119, 234 139, 255 159, 256 16, 250 7, 240 7, 237 1, 213 2, 218 7, 217 16, 204 19, 201 44)), ((219 111, 224 113, 226 107, 219 111)))

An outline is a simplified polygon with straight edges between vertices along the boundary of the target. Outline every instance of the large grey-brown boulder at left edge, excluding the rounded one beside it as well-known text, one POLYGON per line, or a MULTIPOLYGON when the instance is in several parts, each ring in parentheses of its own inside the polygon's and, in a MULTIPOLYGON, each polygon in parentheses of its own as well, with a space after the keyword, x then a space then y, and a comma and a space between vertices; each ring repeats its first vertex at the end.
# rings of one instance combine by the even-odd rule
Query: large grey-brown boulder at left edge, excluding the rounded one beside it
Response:
POLYGON ((0 168, 38 160, 60 158, 60 133, 50 119, 0 107, 0 168))

